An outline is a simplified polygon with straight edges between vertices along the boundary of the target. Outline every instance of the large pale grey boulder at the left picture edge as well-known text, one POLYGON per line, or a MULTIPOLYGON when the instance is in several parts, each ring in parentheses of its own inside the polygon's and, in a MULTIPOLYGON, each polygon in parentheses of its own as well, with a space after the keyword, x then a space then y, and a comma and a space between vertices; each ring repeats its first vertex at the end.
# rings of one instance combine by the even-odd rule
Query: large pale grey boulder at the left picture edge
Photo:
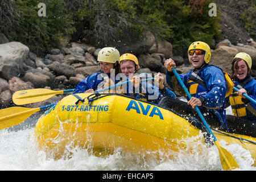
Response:
POLYGON ((19 42, 0 44, 0 77, 10 80, 23 71, 23 63, 30 49, 19 42))

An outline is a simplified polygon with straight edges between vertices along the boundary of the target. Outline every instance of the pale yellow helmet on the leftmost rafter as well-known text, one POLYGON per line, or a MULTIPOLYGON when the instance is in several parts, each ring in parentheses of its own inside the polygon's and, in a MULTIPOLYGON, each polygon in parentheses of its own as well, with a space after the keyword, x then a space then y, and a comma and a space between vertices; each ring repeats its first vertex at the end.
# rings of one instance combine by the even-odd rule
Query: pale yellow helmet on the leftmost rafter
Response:
POLYGON ((115 63, 118 61, 120 63, 120 53, 117 49, 113 47, 104 47, 98 52, 97 61, 115 63))

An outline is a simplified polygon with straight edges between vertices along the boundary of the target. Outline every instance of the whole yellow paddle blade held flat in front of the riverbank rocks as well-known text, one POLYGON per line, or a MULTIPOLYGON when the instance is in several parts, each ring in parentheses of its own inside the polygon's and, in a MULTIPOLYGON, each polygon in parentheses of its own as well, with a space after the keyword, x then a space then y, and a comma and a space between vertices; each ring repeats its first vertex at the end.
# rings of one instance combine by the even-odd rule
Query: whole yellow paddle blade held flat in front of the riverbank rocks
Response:
POLYGON ((13 94, 13 102, 16 105, 31 104, 35 102, 45 101, 56 94, 63 93, 63 90, 54 91, 49 89, 28 89, 19 90, 13 94))

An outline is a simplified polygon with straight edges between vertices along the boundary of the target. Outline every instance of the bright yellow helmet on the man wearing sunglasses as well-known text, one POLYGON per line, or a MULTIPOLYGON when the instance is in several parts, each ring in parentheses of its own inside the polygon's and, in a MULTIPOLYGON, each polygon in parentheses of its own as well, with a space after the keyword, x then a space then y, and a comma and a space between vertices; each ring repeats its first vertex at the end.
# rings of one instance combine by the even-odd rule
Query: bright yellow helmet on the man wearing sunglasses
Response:
MULTIPOLYGON (((210 46, 207 43, 201 42, 201 41, 197 41, 197 42, 193 42, 189 48, 188 48, 188 52, 192 49, 202 49, 205 51, 205 55, 204 55, 204 61, 205 63, 209 63, 210 61, 210 46)), ((188 53, 188 60, 189 60, 189 53, 188 53)), ((189 60, 189 63, 191 63, 191 61, 189 60)))

